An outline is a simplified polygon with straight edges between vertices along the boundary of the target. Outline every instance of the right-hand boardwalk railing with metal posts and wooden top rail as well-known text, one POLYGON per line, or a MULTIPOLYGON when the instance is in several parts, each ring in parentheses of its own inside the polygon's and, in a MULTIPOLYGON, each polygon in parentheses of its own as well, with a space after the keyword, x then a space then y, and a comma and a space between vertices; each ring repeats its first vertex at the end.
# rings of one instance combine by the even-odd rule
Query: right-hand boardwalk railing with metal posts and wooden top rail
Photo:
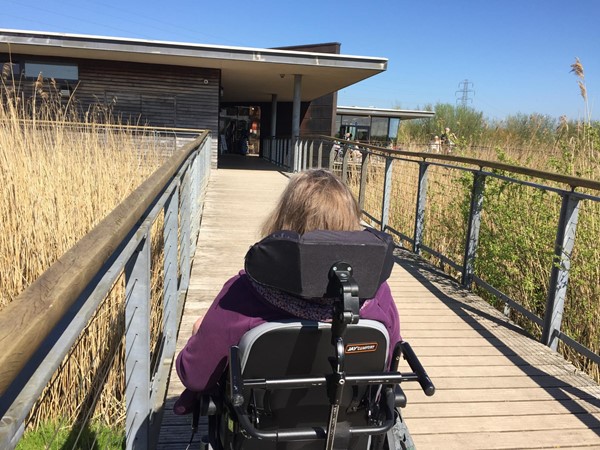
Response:
MULTIPOLYGON (((505 313, 511 309, 542 328, 541 341, 556 350, 558 341, 571 347, 580 355, 600 365, 600 355, 561 331, 563 308, 565 305, 566 291, 569 280, 571 254, 573 251, 575 234, 578 223, 579 204, 588 200, 600 205, 600 182, 587 178, 561 175, 527 167, 514 166, 502 162, 488 161, 463 156, 432 154, 425 152, 412 152, 381 148, 370 144, 349 141, 329 136, 302 136, 294 138, 268 138, 263 140, 263 157, 297 172, 313 167, 326 167, 341 172, 341 179, 347 182, 349 174, 354 172, 354 181, 358 181, 358 202, 365 217, 376 223, 382 230, 395 234, 401 240, 412 244, 412 251, 416 254, 429 253, 443 264, 456 270, 463 286, 470 288, 472 285, 487 291, 506 305, 505 313), (359 152, 359 154, 356 153, 359 152), (373 186, 372 181, 367 186, 368 167, 372 156, 385 160, 380 170, 383 175, 383 186, 373 186), (414 163, 418 166, 415 204, 415 219, 412 233, 402 233, 390 226, 390 203, 392 198, 392 166, 394 161, 414 163), (465 167, 469 165, 471 167, 465 167), (351 167, 352 166, 352 167, 351 167), (427 204, 427 178, 430 167, 469 172, 473 176, 470 192, 470 211, 466 222, 465 241, 460 243, 464 249, 463 260, 453 261, 448 255, 433 249, 423 242, 425 236, 425 212, 427 204), (474 166, 474 167, 473 167, 474 166), (541 179, 539 182, 519 178, 518 175, 541 179), (557 214, 556 238, 554 242, 554 260, 550 269, 547 284, 548 295, 546 307, 542 318, 534 312, 527 310, 516 300, 491 286, 482 279, 484 274, 475 273, 475 261, 479 241, 479 228, 482 220, 484 205, 485 181, 487 178, 497 178, 509 183, 516 183, 527 187, 554 192, 562 199, 560 213, 557 214), (551 181, 564 186, 556 186, 551 181), (577 188, 589 189, 591 192, 576 192, 577 188), (376 189, 383 193, 381 201, 381 219, 373 217, 365 211, 365 191, 376 189)), ((405 181, 406 183, 406 181, 405 181)), ((469 195, 469 194, 467 194, 469 195)), ((550 244, 550 243, 548 243, 550 244)))

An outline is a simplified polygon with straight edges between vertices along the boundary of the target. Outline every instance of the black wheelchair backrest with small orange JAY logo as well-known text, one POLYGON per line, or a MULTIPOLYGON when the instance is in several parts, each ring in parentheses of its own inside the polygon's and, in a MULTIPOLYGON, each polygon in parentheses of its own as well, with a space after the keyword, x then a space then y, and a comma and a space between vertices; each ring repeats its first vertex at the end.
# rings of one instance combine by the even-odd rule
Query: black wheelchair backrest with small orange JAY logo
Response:
MULTIPOLYGON (((345 370, 352 374, 383 372, 388 365, 388 333, 373 320, 348 326, 345 334, 345 370)), ((326 427, 330 403, 325 384, 318 385, 332 372, 331 325, 320 322, 265 323, 250 330, 240 345, 242 378, 281 380, 314 377, 295 389, 246 387, 245 408, 253 411, 261 430, 326 427)), ((353 386, 344 390, 338 422, 366 426, 370 402, 379 386, 353 386)), ((263 443, 264 445, 265 443, 263 443)), ((291 444, 290 444, 291 445, 291 444)), ((319 445, 323 445, 321 442, 319 445)))

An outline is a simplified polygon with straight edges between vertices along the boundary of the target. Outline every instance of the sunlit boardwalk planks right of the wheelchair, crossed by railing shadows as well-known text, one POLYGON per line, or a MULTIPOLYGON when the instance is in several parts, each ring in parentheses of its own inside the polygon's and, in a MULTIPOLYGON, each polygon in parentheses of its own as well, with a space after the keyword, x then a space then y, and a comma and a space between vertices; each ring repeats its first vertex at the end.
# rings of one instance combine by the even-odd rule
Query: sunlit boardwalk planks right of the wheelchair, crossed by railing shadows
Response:
POLYGON ((457 449, 600 448, 593 380, 414 255, 398 251, 397 263, 421 288, 393 286, 403 337, 438 388, 431 399, 406 388, 417 444, 437 448, 445 436, 457 449))

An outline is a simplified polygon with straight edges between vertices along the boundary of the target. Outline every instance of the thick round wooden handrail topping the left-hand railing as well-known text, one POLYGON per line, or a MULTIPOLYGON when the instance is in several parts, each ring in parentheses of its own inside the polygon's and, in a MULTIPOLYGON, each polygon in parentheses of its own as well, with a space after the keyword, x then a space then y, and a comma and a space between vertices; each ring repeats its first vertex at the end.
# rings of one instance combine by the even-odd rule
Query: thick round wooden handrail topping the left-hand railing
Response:
POLYGON ((0 395, 71 308, 99 269, 205 140, 208 132, 177 150, 96 227, 0 311, 0 395))

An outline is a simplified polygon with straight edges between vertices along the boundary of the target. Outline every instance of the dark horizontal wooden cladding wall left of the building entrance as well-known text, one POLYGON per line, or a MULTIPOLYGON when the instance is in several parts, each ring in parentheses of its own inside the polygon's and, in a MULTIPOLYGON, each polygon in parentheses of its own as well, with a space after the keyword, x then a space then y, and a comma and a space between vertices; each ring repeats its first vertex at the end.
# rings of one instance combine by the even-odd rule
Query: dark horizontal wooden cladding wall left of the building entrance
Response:
MULTIPOLYGON (((8 55, 0 55, 8 61, 8 55)), ((69 62, 79 68, 78 82, 57 80, 57 89, 69 87, 82 114, 132 125, 209 129, 216 136, 219 117, 219 79, 216 69, 102 60, 73 60, 12 55, 22 68, 25 61, 69 62)), ((34 80, 21 83, 26 95, 34 80)), ((49 83, 45 86, 50 88, 49 83)))

